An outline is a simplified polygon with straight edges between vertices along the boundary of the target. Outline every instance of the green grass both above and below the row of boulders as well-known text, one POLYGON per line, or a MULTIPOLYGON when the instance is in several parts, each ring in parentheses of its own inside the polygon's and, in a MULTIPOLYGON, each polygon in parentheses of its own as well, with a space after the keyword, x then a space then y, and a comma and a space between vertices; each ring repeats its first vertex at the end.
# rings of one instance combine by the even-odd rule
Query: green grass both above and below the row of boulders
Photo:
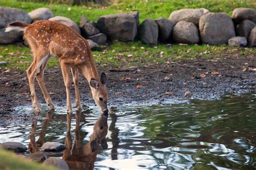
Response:
MULTIPOLYGON (((31 0, 32 1, 32 0, 31 0)), ((69 17, 79 24, 80 17, 85 15, 93 21, 98 17, 112 13, 122 13, 130 11, 140 12, 140 22, 145 18, 157 19, 158 17, 168 18, 174 10, 182 8, 206 8, 211 12, 226 12, 231 16, 232 10, 238 7, 256 8, 256 2, 247 1, 221 1, 221 0, 191 0, 191 1, 127 1, 116 2, 108 6, 89 5, 71 6, 62 4, 43 4, 32 2, 21 2, 14 0, 0 1, 0 6, 10 6, 30 12, 40 7, 52 10, 55 16, 61 15, 69 17), (69 10, 70 8, 70 10, 69 10)), ((97 65, 113 65, 115 67, 129 67, 134 65, 149 65, 154 63, 168 63, 177 59, 194 59, 200 57, 221 57, 233 55, 255 54, 255 48, 234 48, 226 45, 145 45, 142 42, 118 42, 114 41, 109 46, 103 46, 103 51, 93 52, 97 65)), ((8 68, 25 70, 32 61, 32 55, 28 47, 20 45, 0 46, 0 58, 7 61, 8 68)), ((49 67, 59 66, 56 58, 51 58, 49 67)))

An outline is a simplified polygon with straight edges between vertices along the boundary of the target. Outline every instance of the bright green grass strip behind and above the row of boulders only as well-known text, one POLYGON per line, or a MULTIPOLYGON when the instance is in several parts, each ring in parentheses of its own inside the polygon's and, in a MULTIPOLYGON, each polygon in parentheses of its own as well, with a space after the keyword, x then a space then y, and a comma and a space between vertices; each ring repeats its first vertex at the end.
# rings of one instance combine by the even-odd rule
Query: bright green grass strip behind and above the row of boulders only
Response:
POLYGON ((99 5, 63 5, 63 4, 44 4, 35 2, 21 2, 14 0, 0 1, 0 6, 9 6, 12 8, 23 9, 30 12, 37 8, 46 7, 52 10, 55 16, 69 17, 79 24, 82 15, 85 15, 92 21, 97 21, 102 15, 112 13, 122 13, 139 11, 140 22, 146 18, 157 19, 158 17, 169 18, 170 13, 174 10, 183 8, 206 8, 211 12, 226 12, 231 16, 235 8, 256 8, 256 2, 253 0, 179 0, 179 1, 119 1, 117 3, 109 3, 107 6, 99 5), (70 8, 70 10, 69 10, 70 8))

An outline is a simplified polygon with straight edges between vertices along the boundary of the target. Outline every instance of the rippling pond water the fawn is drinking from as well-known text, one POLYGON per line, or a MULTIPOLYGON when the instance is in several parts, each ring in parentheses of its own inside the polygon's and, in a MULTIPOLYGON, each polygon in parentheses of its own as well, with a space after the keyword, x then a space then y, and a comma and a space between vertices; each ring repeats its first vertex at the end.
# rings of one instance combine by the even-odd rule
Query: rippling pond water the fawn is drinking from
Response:
MULTIPOLYGON (((33 117, 33 122, 1 129, 0 143, 20 141, 29 146, 38 139, 41 143, 66 141, 66 145, 71 144, 66 153, 72 150, 75 159, 83 154, 79 146, 85 148, 91 135, 96 134, 93 125, 100 112, 89 107, 67 116, 65 110, 57 108, 51 119, 45 111, 33 117)), ((26 108, 20 111, 28 112, 26 108)), ((225 96, 216 101, 113 107, 107 118, 108 148, 96 150, 96 161, 86 155, 83 160, 95 161, 96 169, 255 169, 255 122, 256 94, 225 96)), ((99 136, 104 140, 105 134, 99 136)), ((62 158, 62 154, 55 156, 62 158)))

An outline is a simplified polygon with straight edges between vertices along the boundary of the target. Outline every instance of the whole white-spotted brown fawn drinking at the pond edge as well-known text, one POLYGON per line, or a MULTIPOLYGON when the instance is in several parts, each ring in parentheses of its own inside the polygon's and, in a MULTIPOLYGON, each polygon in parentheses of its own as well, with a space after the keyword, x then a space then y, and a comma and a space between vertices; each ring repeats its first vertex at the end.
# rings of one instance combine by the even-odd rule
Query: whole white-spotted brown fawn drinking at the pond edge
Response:
POLYGON ((82 109, 78 91, 79 73, 81 73, 86 77, 90 84, 95 103, 103 112, 108 112, 107 92, 105 88, 106 75, 105 73, 102 73, 99 79, 91 49, 88 42, 82 36, 72 30, 69 26, 50 20, 41 20, 33 24, 13 22, 8 25, 5 32, 12 30, 24 31, 24 38, 29 42, 33 53, 33 62, 26 70, 26 73, 29 80, 32 105, 37 112, 40 111, 40 108, 35 91, 35 77, 42 89, 46 103, 51 109, 55 108, 43 80, 44 69, 48 63, 50 55, 59 58, 66 86, 66 105, 69 112, 72 112, 70 69, 75 85, 77 108, 82 109))

